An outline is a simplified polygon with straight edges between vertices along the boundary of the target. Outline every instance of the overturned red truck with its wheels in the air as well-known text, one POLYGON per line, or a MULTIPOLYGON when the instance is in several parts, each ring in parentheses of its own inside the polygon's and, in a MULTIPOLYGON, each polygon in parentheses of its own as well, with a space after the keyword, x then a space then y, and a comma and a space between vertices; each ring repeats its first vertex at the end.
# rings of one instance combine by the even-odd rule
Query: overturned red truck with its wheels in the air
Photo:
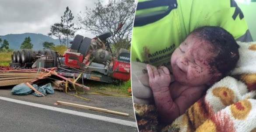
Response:
POLYGON ((12 68, 53 68, 68 78, 119 83, 130 79, 130 51, 120 49, 113 54, 108 37, 110 32, 95 38, 76 35, 63 55, 50 50, 20 50, 12 54, 12 68))

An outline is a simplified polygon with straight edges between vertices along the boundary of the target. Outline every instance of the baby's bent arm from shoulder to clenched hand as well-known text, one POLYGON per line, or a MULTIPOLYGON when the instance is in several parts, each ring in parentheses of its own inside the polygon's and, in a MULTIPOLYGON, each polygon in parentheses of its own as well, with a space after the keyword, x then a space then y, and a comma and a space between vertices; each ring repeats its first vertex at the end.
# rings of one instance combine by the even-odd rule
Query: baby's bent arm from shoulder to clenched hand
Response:
POLYGON ((147 65, 147 71, 149 75, 149 84, 154 95, 154 102, 158 108, 161 122, 164 124, 172 123, 175 118, 184 114, 186 109, 201 97, 202 92, 197 88, 189 88, 183 91, 178 98, 172 100, 169 91, 171 77, 168 69, 165 67, 156 69, 147 65))

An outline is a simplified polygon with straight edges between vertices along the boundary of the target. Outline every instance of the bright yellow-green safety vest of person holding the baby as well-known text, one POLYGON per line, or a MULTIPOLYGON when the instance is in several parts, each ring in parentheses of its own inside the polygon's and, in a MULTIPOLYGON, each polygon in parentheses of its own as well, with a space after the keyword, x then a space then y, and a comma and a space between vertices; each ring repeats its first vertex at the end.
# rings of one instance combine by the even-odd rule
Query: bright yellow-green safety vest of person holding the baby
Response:
POLYGON ((234 0, 138 0, 131 61, 170 68, 175 48, 202 26, 223 27, 235 39, 248 30, 234 0))

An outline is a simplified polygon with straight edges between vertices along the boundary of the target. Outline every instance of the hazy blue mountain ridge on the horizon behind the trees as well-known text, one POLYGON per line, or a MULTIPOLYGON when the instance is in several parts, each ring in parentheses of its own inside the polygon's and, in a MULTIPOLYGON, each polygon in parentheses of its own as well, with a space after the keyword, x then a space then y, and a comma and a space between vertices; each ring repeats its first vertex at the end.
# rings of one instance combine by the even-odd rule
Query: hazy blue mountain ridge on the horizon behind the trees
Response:
POLYGON ((53 42, 53 44, 55 45, 60 45, 59 39, 53 39, 52 37, 46 36, 44 34, 24 33, 24 34, 7 34, 4 36, 0 36, 2 41, 6 39, 9 42, 9 48, 14 50, 20 49, 21 43, 25 40, 25 37, 31 38, 31 43, 34 45, 33 50, 43 49, 42 43, 45 41, 53 42))

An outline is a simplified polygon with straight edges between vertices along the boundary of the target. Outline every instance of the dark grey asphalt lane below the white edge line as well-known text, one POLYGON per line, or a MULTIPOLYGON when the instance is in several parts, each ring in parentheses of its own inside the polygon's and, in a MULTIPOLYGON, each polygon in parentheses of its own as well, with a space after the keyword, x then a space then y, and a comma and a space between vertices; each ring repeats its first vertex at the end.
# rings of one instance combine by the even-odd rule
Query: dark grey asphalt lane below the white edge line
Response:
POLYGON ((137 132, 135 127, 0 100, 1 132, 137 132))

